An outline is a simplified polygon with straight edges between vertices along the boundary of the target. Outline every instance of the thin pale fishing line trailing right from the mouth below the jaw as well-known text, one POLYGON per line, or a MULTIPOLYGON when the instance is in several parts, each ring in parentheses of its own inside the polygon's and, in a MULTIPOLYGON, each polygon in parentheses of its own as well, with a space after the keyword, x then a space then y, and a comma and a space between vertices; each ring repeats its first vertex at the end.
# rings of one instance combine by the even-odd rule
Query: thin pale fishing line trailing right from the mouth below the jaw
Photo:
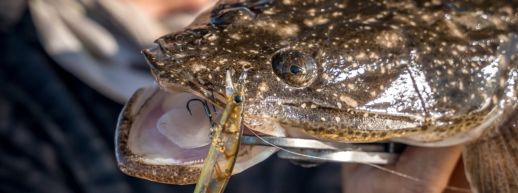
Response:
MULTIPOLYGON (((286 150, 284 148, 281 148, 281 147, 278 147, 276 146, 275 144, 271 144, 270 142, 264 140, 261 136, 258 136, 257 134, 255 134, 255 132, 253 130, 251 130, 250 128, 248 128, 248 130, 250 130, 255 136, 259 137, 261 140, 263 140, 265 143, 268 143, 270 144, 270 146, 273 146, 273 147, 276 147, 276 148, 279 148, 280 150, 283 150, 283 151, 286 151, 286 152, 289 152, 289 153, 293 153, 293 154, 296 154, 296 155, 300 155, 300 156, 305 156, 305 157, 311 157, 311 158, 316 158, 316 159, 322 159, 322 160, 330 160, 330 161, 335 161, 334 159, 330 159, 330 158, 325 158, 325 157, 316 157, 316 156, 311 156, 311 155, 305 155, 305 154, 301 154, 301 153, 297 153, 297 152, 293 152, 293 151, 290 151, 290 150, 286 150)), ((419 182, 419 183, 424 183, 424 184, 432 184, 431 182, 429 181, 425 181, 425 180, 422 180, 420 178, 416 178, 414 176, 411 176, 411 175, 407 175, 407 174, 404 174, 404 173, 401 173, 401 172, 398 172, 398 171, 394 171, 394 170, 391 170, 389 168, 385 168, 385 167, 382 167, 382 166, 378 166, 376 164, 371 164, 371 163, 359 163, 359 164, 366 164, 366 165, 369 165, 369 166, 372 166, 372 167, 375 167, 375 168, 378 168, 378 169, 381 169, 383 171, 386 171, 386 172, 390 172, 390 173, 393 173, 393 174, 396 174, 396 175, 399 175, 403 178, 406 178, 406 179, 410 179, 410 180, 413 180, 413 181, 416 181, 416 182, 419 182)), ((462 192, 472 192, 471 189, 466 189, 466 188, 460 188, 460 187, 454 187, 454 186, 449 186, 449 185, 446 185, 444 187, 444 189, 450 189, 450 190, 454 190, 454 191, 462 191, 462 192)))

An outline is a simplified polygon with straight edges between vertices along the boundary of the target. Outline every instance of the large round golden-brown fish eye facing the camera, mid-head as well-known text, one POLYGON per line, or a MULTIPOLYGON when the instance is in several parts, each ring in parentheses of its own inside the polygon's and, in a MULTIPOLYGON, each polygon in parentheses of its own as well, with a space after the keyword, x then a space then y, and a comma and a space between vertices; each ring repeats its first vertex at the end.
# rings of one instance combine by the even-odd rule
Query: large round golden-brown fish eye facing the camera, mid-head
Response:
POLYGON ((275 75, 284 83, 303 88, 315 79, 316 65, 313 58, 295 50, 282 51, 271 58, 275 75))

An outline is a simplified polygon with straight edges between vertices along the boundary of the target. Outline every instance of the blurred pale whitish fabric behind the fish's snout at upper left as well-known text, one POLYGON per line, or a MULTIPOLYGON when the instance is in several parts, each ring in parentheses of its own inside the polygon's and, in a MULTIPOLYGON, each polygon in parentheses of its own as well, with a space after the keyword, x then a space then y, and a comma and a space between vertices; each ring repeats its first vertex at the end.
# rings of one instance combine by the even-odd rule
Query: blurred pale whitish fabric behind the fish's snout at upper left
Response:
POLYGON ((117 0, 30 0, 28 6, 40 41, 56 63, 119 103, 154 82, 140 50, 195 17, 183 14, 171 28, 117 0))

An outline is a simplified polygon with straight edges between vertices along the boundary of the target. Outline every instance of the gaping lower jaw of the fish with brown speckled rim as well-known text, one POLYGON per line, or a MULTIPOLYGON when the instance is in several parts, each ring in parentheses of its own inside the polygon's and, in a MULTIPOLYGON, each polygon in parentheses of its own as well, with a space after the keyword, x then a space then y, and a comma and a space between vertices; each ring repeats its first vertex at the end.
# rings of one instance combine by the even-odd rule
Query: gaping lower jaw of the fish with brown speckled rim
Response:
MULTIPOLYGON (((183 94, 188 96, 180 98, 187 100, 193 96, 190 93, 183 94)), ((205 163, 204 159, 207 156, 209 144, 202 143, 197 145, 201 147, 182 148, 176 144, 179 143, 178 141, 171 141, 171 137, 166 136, 167 133, 164 134, 158 130, 157 121, 161 116, 166 115, 166 112, 161 109, 171 110, 169 109, 171 107, 164 107, 171 105, 164 101, 171 97, 179 100, 178 96, 170 95, 171 93, 167 93, 157 86, 141 88, 135 92, 119 115, 116 131, 117 162, 121 171, 138 178, 170 184, 196 183, 205 163)), ((186 101, 184 102, 186 103, 186 101)), ((189 115, 184 109, 184 102, 181 101, 179 105, 185 111, 184 113, 189 115)), ((197 106, 192 107, 193 115, 196 110, 194 107, 197 106)), ((200 118, 193 117, 193 119, 199 120, 200 118)), ((208 119, 207 123, 209 124, 208 119)), ((203 127, 206 130, 203 136, 210 141, 209 127, 203 127)), ((174 135, 175 131, 169 133, 174 135)), ((184 134, 177 132, 177 135, 184 134)), ((271 147, 241 146, 232 174, 262 162, 275 151, 275 148, 271 147)))

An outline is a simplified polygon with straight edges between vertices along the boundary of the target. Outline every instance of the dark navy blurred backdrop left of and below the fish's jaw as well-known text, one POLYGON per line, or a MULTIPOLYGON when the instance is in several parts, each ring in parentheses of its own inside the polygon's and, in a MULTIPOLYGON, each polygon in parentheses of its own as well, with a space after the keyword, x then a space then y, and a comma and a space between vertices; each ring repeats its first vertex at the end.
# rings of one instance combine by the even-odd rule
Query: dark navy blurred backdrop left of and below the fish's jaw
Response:
MULTIPOLYGON (((113 141, 123 105, 49 56, 27 2, 0 3, 0 192, 192 192, 194 185, 118 169, 113 141)), ((145 65, 138 49, 127 52, 145 65)), ((340 192, 340 165, 303 168, 274 155, 234 175, 225 190, 245 191, 340 192)))

